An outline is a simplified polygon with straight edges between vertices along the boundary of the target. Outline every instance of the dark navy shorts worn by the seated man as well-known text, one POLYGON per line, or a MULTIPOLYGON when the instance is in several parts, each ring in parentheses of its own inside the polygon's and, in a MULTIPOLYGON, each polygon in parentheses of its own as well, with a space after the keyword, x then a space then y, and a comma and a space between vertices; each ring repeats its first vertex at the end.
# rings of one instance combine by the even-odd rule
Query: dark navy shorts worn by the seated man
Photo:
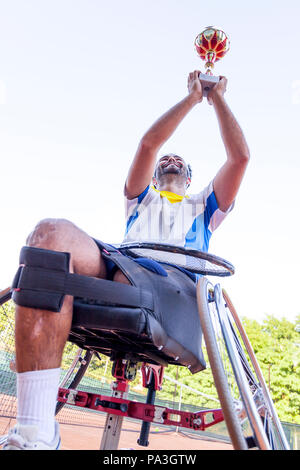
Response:
POLYGON ((148 259, 144 265, 144 261, 141 262, 145 260, 143 258, 132 259, 118 252, 117 247, 105 245, 99 240, 95 242, 105 260, 110 278, 117 269, 121 269, 131 284, 150 291, 154 299, 152 310, 127 309, 123 312, 124 317, 121 310, 112 311, 116 321, 115 328, 118 328, 120 322, 127 327, 135 318, 132 322, 132 332, 135 331, 143 337, 142 331, 146 331, 147 336, 158 348, 162 347, 171 357, 178 355, 178 364, 187 365, 190 361, 192 372, 204 369, 202 329, 194 279, 196 276, 190 276, 190 273, 176 266, 148 259), (109 251, 109 256, 105 248, 109 251), (141 324, 144 325, 142 329, 141 324))

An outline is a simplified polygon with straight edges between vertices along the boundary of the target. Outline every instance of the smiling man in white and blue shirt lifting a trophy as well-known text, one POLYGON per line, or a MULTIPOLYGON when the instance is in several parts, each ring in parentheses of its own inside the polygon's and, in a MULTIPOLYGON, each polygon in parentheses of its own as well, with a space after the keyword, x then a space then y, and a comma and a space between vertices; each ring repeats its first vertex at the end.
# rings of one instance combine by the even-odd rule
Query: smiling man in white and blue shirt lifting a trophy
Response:
MULTIPOLYGON (((191 169, 185 160, 170 153, 156 163, 161 146, 203 100, 198 77, 199 71, 189 74, 188 94, 158 119, 139 143, 124 189, 127 212, 124 242, 150 240, 207 252, 212 232, 233 207, 249 150, 224 99, 225 77, 208 96, 227 154, 213 181, 201 192, 188 196, 191 169)), ((94 278, 95 282, 110 281, 107 289, 103 284, 107 297, 113 295, 111 281, 118 282, 116 296, 125 299, 120 304, 124 306, 126 296, 134 297, 131 306, 135 306, 139 319, 141 311, 146 316, 149 336, 157 346, 164 342, 167 354, 182 357, 181 364, 189 364, 193 373, 205 367, 201 342, 199 345, 201 331, 196 320, 193 274, 145 258, 132 260, 68 220, 42 220, 22 249, 13 285, 18 411, 17 424, 10 431, 5 449, 59 448, 54 414, 61 359, 72 327, 73 299, 78 292, 74 288, 72 295, 73 284, 69 290, 64 289, 69 279, 74 281, 68 277, 70 274, 79 275, 78 283, 82 276, 94 278), (56 287, 49 290, 49 283, 56 287), (152 300, 140 296, 141 305, 136 305, 133 290, 136 287, 150 291, 152 300), (179 292, 181 296, 177 295, 179 292), (187 311, 192 315, 189 320, 185 318, 187 311)), ((124 318, 120 314, 115 321, 128 322, 124 318)))

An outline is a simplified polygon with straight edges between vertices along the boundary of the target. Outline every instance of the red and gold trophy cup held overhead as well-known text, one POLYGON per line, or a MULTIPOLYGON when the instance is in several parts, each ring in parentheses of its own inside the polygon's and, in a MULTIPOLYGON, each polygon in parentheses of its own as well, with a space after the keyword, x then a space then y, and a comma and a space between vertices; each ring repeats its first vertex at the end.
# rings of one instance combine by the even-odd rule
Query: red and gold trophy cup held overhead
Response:
POLYGON ((195 48, 199 57, 205 61, 206 72, 200 73, 199 79, 202 83, 203 96, 207 96, 220 80, 220 77, 212 73, 214 64, 229 51, 230 41, 224 31, 208 26, 196 37, 195 48))

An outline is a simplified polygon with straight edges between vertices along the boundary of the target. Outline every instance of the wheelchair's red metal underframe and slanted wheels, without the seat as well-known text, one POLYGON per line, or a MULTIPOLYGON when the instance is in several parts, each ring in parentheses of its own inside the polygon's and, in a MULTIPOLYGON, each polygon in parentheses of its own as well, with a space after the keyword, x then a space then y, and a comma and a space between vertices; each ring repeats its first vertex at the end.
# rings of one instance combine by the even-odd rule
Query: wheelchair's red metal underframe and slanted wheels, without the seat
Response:
MULTIPOLYGON (((213 260, 212 255, 210 258, 213 260)), ((235 449, 289 450, 250 342, 228 295, 222 291, 219 284, 213 286, 206 277, 199 279, 196 293, 200 323, 221 402, 220 409, 193 413, 155 405, 155 395, 162 388, 166 365, 166 361, 162 358, 160 360, 159 356, 155 358, 158 365, 153 364, 153 357, 149 356, 149 362, 152 363, 143 362, 141 367, 143 386, 148 389, 146 403, 127 399, 129 383, 136 376, 137 362, 125 359, 124 354, 122 357, 118 351, 114 354, 112 375, 115 381, 112 384, 111 396, 76 390, 94 353, 92 347, 89 347, 70 386, 59 388, 56 413, 64 404, 107 413, 100 446, 102 450, 118 448, 125 417, 142 421, 138 439, 141 446, 149 444, 151 423, 204 431, 225 420, 235 449), (232 368, 230 377, 226 376, 227 364, 223 363, 224 351, 220 349, 220 340, 224 343, 225 355, 228 356, 228 364, 232 368), (238 398, 231 391, 232 380, 237 385, 238 398), (248 436, 245 436, 243 431, 246 420, 252 429, 248 436)), ((0 305, 8 301, 11 294, 11 289, 0 292, 0 305)))

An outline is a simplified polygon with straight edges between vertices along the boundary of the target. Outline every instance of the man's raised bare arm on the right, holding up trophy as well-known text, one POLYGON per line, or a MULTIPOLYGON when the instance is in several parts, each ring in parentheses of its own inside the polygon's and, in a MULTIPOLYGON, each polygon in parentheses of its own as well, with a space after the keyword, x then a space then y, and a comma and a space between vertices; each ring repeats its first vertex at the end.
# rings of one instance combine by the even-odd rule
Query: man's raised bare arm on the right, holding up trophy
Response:
POLYGON ((243 132, 225 101, 227 79, 221 77, 208 96, 213 105, 220 126, 221 136, 227 153, 227 161, 214 178, 215 196, 222 211, 233 203, 242 182, 250 153, 243 132))

